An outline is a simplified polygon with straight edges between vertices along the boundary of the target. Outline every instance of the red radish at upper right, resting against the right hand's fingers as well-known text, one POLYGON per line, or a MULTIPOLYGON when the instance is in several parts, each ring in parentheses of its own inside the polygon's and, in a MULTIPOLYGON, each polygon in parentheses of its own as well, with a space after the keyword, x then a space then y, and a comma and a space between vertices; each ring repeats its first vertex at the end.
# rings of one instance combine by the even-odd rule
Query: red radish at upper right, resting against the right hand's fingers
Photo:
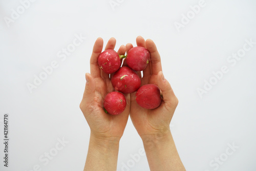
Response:
POLYGON ((149 61, 150 52, 140 46, 130 49, 126 56, 127 65, 135 71, 144 70, 149 61))

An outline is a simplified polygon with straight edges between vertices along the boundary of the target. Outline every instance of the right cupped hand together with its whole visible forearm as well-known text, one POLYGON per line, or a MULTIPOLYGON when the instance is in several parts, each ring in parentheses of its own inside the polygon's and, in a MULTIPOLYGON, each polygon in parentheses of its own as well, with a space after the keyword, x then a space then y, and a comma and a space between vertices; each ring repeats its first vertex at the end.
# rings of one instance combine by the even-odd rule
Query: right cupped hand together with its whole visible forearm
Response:
MULTIPOLYGON (((156 84, 162 91, 163 99, 158 108, 149 110, 141 108, 135 100, 135 93, 132 93, 130 117, 142 138, 150 170, 183 171, 185 167, 180 160, 169 127, 178 99, 163 76, 160 55, 154 42, 150 39, 145 41, 141 36, 138 36, 136 41, 137 46, 145 47, 151 54, 151 61, 143 71, 141 84, 156 84)), ((127 51, 132 47, 132 44, 127 44, 127 51)), ((141 77, 141 73, 138 74, 141 77)))

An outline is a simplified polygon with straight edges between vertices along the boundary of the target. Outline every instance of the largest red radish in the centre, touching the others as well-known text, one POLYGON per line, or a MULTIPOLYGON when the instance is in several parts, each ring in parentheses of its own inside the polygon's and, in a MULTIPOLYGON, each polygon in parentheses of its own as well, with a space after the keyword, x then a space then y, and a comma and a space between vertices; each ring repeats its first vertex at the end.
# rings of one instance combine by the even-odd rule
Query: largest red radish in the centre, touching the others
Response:
POLYGON ((133 93, 140 88, 138 74, 129 67, 121 67, 111 78, 114 89, 122 93, 133 93))

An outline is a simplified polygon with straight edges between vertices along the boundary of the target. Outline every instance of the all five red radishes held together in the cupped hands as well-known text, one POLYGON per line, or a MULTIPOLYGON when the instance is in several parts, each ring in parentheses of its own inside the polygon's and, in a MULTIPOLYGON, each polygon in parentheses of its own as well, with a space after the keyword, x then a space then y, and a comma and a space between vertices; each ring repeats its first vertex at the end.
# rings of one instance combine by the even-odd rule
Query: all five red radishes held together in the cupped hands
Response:
POLYGON ((126 56, 118 55, 114 50, 105 50, 98 57, 100 69, 113 74, 111 78, 115 92, 107 94, 103 106, 106 113, 118 115, 126 107, 123 94, 136 92, 137 103, 145 109, 155 109, 161 104, 160 89, 155 84, 141 86, 141 80, 136 71, 142 71, 150 61, 150 52, 143 47, 134 47, 126 56), (120 67, 121 59, 126 57, 128 67, 120 67), (122 94, 123 93, 123 94, 122 94))

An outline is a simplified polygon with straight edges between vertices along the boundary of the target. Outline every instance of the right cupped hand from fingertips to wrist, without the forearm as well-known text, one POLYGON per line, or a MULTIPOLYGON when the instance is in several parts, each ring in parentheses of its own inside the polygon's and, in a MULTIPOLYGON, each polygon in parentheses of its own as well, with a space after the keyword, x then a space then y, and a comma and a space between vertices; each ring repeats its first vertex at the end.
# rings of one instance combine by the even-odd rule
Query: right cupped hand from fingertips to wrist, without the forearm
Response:
MULTIPOLYGON (((151 39, 145 41, 141 36, 137 37, 136 42, 137 46, 146 48, 151 54, 151 61, 143 71, 141 86, 148 83, 156 84, 162 91, 163 99, 158 108, 148 110, 137 104, 136 93, 132 93, 130 117, 142 139, 148 138, 148 136, 163 136, 170 132, 169 124, 178 105, 178 99, 163 76, 160 55, 154 42, 151 39)), ((132 44, 127 44, 127 52, 132 47, 132 44)), ((140 72, 138 74, 141 77, 140 72)))

